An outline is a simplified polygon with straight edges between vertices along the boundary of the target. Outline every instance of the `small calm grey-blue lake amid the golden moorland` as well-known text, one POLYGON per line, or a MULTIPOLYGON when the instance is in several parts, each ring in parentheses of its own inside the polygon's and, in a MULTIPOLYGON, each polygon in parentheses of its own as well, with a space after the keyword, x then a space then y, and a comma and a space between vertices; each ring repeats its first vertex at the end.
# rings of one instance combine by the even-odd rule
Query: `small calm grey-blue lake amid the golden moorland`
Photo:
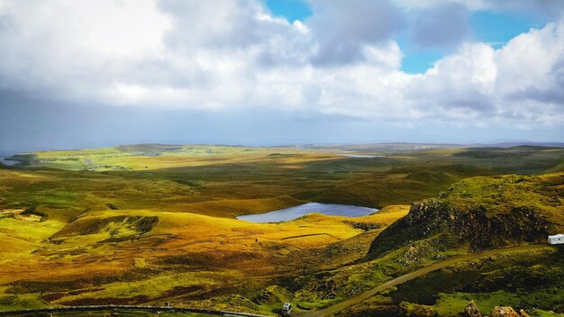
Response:
POLYGON ((237 219, 247 222, 287 222, 307 213, 323 213, 330 216, 361 217, 378 212, 378 209, 353 206, 350 204, 308 203, 270 213, 244 214, 237 219))

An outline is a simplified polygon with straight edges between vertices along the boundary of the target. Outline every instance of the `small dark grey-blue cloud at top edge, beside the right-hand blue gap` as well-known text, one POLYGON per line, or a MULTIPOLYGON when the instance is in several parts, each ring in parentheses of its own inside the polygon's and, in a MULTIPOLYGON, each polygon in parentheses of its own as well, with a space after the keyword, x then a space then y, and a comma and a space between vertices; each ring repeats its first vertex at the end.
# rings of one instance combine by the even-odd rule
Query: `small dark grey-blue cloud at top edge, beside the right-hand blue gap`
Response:
POLYGON ((445 3, 414 12, 410 41, 423 49, 452 49, 472 34, 465 5, 445 3))

